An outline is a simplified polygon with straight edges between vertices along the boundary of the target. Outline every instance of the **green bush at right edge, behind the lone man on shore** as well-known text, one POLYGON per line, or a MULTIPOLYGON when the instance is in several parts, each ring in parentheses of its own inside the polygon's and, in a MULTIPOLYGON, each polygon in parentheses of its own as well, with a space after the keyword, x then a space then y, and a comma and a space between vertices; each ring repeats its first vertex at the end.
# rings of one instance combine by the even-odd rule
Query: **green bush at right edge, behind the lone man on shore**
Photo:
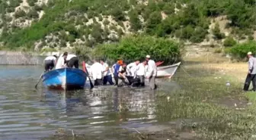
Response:
POLYGON ((242 44, 235 45, 229 49, 229 52, 234 58, 242 59, 245 58, 248 51, 251 51, 253 54, 256 54, 256 42, 250 41, 242 44))

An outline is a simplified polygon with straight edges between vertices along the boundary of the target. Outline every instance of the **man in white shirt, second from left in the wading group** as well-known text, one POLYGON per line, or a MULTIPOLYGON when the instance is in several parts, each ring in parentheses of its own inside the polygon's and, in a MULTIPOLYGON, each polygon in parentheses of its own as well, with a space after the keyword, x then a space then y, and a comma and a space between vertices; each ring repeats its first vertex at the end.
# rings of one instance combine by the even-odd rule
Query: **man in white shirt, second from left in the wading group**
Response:
POLYGON ((110 68, 108 67, 108 64, 104 63, 104 60, 102 59, 100 62, 104 70, 103 85, 107 85, 107 82, 109 82, 110 85, 114 85, 114 82, 112 81, 112 74, 110 72, 110 68))

